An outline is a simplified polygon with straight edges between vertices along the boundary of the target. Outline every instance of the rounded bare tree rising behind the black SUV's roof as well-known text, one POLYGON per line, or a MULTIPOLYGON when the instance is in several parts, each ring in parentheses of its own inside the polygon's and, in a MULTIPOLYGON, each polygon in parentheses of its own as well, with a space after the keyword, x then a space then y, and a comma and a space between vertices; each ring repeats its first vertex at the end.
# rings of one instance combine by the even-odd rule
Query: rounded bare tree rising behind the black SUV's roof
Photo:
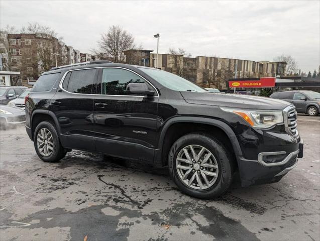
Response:
POLYGON ((106 53, 110 55, 115 63, 124 63, 124 51, 133 49, 134 37, 123 30, 119 26, 112 26, 107 33, 101 34, 101 39, 98 41, 98 50, 91 50, 94 53, 106 53))

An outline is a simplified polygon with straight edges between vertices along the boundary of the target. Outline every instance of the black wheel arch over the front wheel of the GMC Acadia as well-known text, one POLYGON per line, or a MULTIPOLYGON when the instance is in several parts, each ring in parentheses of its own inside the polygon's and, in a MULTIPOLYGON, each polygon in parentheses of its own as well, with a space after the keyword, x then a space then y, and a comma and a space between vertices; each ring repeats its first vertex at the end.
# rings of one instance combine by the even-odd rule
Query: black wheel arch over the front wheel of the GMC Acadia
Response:
POLYGON ((231 127, 218 119, 196 116, 178 116, 173 117, 166 122, 160 134, 158 149, 156 150, 155 155, 155 162, 158 165, 166 166, 168 163, 167 156, 173 143, 182 135, 199 131, 201 128, 205 127, 209 128, 209 133, 218 132, 220 137, 224 139, 223 141, 226 141, 228 142, 228 145, 231 145, 231 148, 235 154, 235 158, 238 162, 239 158, 241 158, 243 155, 238 139, 231 127), (187 131, 179 131, 179 129, 175 129, 175 127, 182 127, 187 131), (194 127, 195 129, 190 129, 190 127, 194 127), (178 135, 174 134, 176 130, 179 132, 178 135))

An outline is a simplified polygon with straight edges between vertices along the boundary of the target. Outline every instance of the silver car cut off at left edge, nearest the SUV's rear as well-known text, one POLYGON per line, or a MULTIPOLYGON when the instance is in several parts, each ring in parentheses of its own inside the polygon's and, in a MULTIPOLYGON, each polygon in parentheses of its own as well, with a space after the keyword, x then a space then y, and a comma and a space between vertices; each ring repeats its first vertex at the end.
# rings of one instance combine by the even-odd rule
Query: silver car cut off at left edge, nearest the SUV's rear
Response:
POLYGON ((26 122, 26 112, 18 107, 0 104, 0 127, 7 129, 26 122))

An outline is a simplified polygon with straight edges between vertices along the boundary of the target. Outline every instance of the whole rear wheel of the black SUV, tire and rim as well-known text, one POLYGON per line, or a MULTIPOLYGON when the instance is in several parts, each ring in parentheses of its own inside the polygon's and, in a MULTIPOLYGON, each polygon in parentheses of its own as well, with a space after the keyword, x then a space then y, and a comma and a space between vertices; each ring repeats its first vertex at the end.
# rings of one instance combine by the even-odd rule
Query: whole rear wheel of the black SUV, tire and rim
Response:
POLYGON ((34 132, 33 143, 39 158, 44 162, 58 162, 66 155, 66 150, 60 144, 57 130, 51 122, 45 121, 38 124, 34 132), (50 138, 48 133, 50 133, 52 138, 50 138), (38 134, 40 134, 40 136, 38 136, 38 134), (43 136, 48 136, 47 140, 43 140, 41 138, 43 136), (48 148, 43 147, 46 145, 48 148), (42 148, 44 148, 43 151, 41 151, 42 148), (50 150, 50 148, 52 148, 52 150, 50 150))

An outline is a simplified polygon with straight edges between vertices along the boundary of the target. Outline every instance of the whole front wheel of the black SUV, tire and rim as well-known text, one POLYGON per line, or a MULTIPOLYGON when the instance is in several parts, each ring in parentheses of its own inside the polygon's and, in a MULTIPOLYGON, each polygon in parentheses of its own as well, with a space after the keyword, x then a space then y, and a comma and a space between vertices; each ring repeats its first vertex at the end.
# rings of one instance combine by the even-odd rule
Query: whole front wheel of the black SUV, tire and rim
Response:
POLYGON ((171 178, 193 197, 209 199, 223 194, 230 187, 233 169, 225 146, 202 133, 181 137, 169 152, 171 178))

